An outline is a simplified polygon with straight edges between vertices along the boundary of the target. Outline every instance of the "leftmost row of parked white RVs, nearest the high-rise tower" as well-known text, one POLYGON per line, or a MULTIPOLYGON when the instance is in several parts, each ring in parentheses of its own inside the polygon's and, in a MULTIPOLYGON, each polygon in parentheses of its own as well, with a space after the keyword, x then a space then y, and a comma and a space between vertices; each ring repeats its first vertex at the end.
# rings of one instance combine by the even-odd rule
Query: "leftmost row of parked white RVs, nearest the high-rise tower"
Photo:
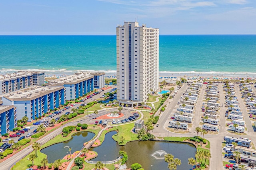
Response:
POLYGON ((188 123, 192 123, 196 102, 198 100, 198 95, 201 88, 202 83, 196 82, 188 86, 188 88, 184 91, 183 95, 180 97, 180 100, 177 103, 178 108, 174 113, 174 117, 172 117, 172 119, 174 119, 175 121, 169 122, 170 127, 177 128, 177 121, 180 121, 180 125, 178 128, 187 129, 188 123))

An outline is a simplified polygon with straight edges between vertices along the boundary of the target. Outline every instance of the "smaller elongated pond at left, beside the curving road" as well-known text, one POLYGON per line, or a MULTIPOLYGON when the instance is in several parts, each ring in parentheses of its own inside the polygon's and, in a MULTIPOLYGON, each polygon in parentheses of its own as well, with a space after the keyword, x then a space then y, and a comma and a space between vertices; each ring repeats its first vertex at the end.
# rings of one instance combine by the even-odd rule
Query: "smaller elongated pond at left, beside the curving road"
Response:
POLYGON ((46 154, 48 156, 48 162, 52 163, 57 159, 62 159, 64 156, 66 156, 67 152, 70 154, 68 151, 70 147, 72 148, 72 153, 77 150, 81 150, 84 143, 90 141, 94 135, 95 134, 91 132, 78 132, 72 135, 70 140, 51 145, 40 150, 40 152, 46 154))

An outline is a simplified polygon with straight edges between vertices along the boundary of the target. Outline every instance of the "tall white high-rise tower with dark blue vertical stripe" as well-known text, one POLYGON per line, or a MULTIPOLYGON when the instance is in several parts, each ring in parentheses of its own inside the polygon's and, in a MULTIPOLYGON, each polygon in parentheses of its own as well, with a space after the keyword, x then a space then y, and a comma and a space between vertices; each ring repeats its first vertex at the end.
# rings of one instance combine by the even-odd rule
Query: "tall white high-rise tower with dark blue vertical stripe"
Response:
POLYGON ((159 29, 124 22, 116 27, 117 100, 135 107, 158 89, 159 29))

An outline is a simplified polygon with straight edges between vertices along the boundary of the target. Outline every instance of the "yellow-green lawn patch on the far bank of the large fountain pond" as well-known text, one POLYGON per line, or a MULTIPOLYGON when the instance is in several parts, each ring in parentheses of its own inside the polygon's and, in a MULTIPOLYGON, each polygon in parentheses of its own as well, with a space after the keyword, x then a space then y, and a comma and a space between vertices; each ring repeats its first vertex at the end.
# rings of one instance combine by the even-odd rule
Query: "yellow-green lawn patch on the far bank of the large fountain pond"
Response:
POLYGON ((129 141, 136 141, 138 140, 137 134, 132 133, 131 130, 134 127, 134 123, 124 124, 120 126, 114 126, 111 130, 115 130, 116 128, 119 129, 118 135, 112 136, 112 138, 118 142, 119 145, 126 145, 129 141), (120 137, 124 137, 123 143, 120 143, 120 137))

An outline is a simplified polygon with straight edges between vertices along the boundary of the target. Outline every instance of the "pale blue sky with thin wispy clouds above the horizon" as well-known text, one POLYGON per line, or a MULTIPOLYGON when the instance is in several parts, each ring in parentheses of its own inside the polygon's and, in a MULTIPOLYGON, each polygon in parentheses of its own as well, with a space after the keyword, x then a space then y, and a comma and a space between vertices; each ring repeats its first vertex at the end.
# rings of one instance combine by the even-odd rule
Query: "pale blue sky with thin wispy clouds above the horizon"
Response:
POLYGON ((113 35, 135 18, 160 34, 256 34, 256 0, 0 1, 0 35, 113 35))

